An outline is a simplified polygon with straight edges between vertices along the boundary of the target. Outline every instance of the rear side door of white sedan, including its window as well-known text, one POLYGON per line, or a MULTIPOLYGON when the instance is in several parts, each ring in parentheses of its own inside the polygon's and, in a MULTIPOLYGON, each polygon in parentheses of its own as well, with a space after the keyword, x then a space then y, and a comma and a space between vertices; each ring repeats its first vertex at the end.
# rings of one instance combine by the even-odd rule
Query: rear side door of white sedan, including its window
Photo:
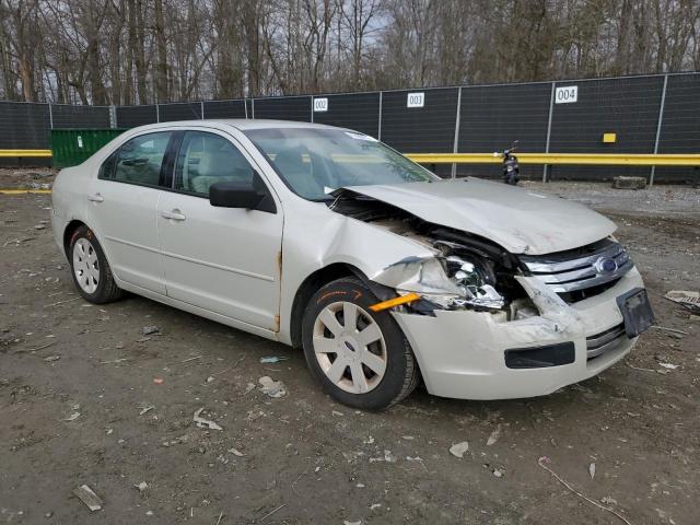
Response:
POLYGON ((92 183, 90 225, 117 278, 165 295, 156 206, 171 176, 164 167, 172 131, 137 136, 100 168, 92 183))

